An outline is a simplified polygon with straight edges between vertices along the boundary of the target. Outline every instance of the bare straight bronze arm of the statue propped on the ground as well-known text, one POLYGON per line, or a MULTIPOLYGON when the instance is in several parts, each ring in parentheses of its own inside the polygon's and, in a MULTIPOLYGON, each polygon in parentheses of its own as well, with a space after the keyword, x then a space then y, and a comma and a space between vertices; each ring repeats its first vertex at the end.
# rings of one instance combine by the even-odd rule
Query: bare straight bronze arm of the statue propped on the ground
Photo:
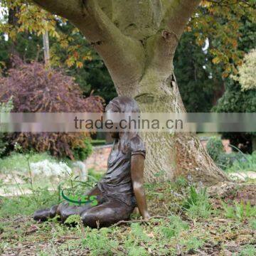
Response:
POLYGON ((142 218, 147 219, 150 217, 150 215, 146 206, 146 196, 143 187, 143 174, 144 156, 140 154, 135 154, 134 156, 132 156, 131 164, 132 186, 137 200, 139 213, 142 215, 142 218))

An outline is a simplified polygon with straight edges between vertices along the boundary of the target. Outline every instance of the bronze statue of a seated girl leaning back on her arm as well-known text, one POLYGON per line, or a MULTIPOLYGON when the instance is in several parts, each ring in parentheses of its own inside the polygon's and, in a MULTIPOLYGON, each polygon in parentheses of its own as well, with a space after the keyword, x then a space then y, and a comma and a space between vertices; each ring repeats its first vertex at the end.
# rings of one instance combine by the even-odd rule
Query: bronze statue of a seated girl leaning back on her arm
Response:
MULTIPOLYGON (((137 102, 129 97, 116 97, 106 112, 140 112, 137 102)), ((107 227, 119 220, 129 219, 137 206, 142 218, 149 218, 143 188, 144 143, 137 132, 111 132, 114 144, 107 161, 107 173, 86 195, 97 196, 97 206, 70 206, 60 203, 50 209, 38 210, 35 220, 47 220, 55 215, 65 221, 70 215, 80 215, 84 225, 91 228, 107 227)))

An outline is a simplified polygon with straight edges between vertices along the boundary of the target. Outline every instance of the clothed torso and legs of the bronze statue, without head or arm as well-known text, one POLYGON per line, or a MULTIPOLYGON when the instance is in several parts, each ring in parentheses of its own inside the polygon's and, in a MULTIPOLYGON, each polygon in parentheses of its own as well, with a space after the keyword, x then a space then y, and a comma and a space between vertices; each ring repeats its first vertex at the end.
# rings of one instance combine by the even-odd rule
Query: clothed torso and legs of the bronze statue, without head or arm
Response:
POLYGON ((127 150, 123 152, 120 139, 112 146, 112 151, 107 161, 107 173, 97 183, 88 195, 97 196, 97 206, 69 206, 68 203, 60 203, 48 210, 39 210, 34 214, 35 220, 53 218, 57 213, 61 220, 65 221, 69 215, 78 214, 84 225, 92 228, 109 226, 119 220, 127 220, 137 206, 132 188, 131 157, 141 154, 145 157, 144 143, 139 135, 129 140, 127 150))

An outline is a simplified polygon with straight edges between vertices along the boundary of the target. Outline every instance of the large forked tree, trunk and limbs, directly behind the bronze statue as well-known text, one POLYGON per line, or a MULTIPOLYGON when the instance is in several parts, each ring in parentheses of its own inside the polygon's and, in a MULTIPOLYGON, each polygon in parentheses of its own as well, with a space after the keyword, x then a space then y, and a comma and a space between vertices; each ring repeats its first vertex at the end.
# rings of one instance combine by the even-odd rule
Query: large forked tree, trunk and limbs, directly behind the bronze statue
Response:
MULTIPOLYGON (((33 0, 70 19, 99 53, 119 95, 134 97, 142 112, 185 112, 172 79, 173 58, 200 0, 33 0)), ((228 178, 193 134, 142 134, 146 181, 190 176, 213 184, 228 178)))

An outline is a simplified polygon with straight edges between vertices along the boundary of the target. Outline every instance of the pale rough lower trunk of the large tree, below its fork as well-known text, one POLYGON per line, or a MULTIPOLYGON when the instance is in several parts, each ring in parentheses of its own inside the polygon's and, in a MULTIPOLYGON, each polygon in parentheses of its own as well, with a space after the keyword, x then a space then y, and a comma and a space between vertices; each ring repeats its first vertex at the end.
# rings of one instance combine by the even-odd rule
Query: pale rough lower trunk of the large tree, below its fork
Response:
MULTIPOLYGON (((169 74, 166 80, 161 80, 161 75, 157 79, 157 73, 151 71, 142 78, 139 88, 141 90, 133 97, 142 112, 186 112, 174 75, 169 74), (156 79, 152 80, 152 77, 156 79)), ((122 95, 129 93, 124 90, 122 95)), ((142 137, 147 153, 146 181, 174 181, 183 176, 192 181, 214 184, 227 179, 203 148, 196 134, 144 132, 142 137)))

